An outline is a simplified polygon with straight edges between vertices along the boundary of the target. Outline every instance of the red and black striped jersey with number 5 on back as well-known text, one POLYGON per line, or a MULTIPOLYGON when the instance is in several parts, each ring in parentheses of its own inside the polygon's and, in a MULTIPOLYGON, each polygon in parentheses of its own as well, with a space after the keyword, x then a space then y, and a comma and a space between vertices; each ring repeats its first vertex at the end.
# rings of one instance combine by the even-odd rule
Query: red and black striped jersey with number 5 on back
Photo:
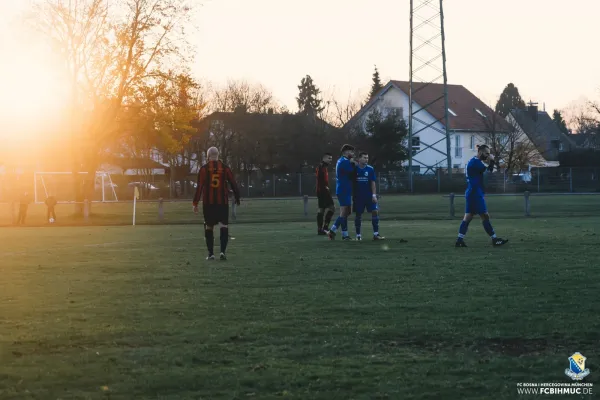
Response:
POLYGON ((240 198, 240 191, 233 177, 231 169, 221 161, 209 161, 198 172, 198 186, 194 195, 194 206, 200 200, 202 204, 229 204, 229 187, 236 200, 240 198))

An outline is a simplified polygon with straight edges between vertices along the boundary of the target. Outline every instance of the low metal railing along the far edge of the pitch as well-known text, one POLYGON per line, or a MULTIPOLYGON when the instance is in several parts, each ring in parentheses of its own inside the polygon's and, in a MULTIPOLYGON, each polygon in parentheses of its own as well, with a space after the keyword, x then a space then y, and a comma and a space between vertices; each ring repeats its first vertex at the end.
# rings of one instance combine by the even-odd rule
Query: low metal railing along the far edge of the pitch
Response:
MULTIPOLYGON (((488 209, 497 218, 590 217, 600 216, 600 193, 523 193, 490 194, 488 209)), ((74 217, 76 205, 59 204, 53 226, 131 225, 133 203, 130 201, 89 204, 85 217, 74 217)), ((382 195, 382 220, 444 220, 462 217, 464 194, 456 195, 382 195)), ((244 199, 238 207, 230 206, 230 221, 239 223, 288 223, 316 221, 317 200, 294 198, 244 199)), ((19 213, 16 203, 0 203, 0 226, 14 225, 19 213)), ((47 208, 32 204, 27 209, 25 226, 46 226, 47 208)), ((136 225, 202 224, 194 215, 189 201, 138 201, 136 225)))

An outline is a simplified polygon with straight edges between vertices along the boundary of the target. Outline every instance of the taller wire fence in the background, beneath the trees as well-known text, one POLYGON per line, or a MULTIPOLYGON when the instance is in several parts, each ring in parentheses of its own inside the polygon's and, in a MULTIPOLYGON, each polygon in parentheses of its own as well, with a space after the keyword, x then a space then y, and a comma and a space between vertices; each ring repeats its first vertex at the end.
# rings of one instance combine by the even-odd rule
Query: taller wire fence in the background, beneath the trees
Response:
MULTIPOLYGON (((600 192, 600 168, 533 168, 522 174, 507 175, 495 172, 486 175, 487 193, 536 193, 558 192, 600 192)), ((170 181, 165 175, 111 175, 109 179, 97 179, 92 201, 132 200, 134 187, 140 189, 142 200, 182 200, 191 199, 196 190, 195 177, 182 181, 170 181), (106 185, 109 185, 106 187, 106 185), (108 193, 108 196, 107 196, 108 193)), ((311 170, 298 173, 265 173, 247 171, 236 176, 243 198, 278 198, 294 196, 314 196, 316 176, 311 170)), ((46 175, 42 186, 35 183, 32 176, 11 180, 0 175, 0 202, 19 201, 24 191, 36 193, 39 202, 44 201, 45 188, 52 192, 59 202, 75 200, 73 175, 46 175)), ((335 172, 330 171, 330 187, 335 191, 335 172)), ((381 172, 377 176, 377 191, 380 194, 410 193, 410 176, 403 171, 381 172)), ((461 193, 466 189, 464 171, 456 169, 450 178, 444 170, 435 174, 413 175, 413 193, 461 193)))

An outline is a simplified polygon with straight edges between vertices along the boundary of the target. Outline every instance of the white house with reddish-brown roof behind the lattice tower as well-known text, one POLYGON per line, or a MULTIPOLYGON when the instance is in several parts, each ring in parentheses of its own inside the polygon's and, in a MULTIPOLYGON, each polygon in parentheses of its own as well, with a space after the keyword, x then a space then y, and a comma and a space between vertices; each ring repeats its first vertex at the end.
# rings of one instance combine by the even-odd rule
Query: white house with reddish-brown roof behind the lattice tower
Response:
MULTIPOLYGON (((427 106, 413 117, 413 171, 433 173, 435 168, 447 167, 444 125, 443 85, 438 83, 413 83, 413 113, 427 106), (437 100, 437 101, 436 101, 437 100)), ((409 88, 406 81, 390 81, 347 124, 357 124, 365 129, 369 113, 379 109, 384 115, 397 111, 408 121, 409 88)), ((462 85, 447 85, 448 117, 453 169, 463 169, 476 155, 478 144, 485 143, 489 134, 489 120, 494 116, 477 96, 462 85)), ((510 129, 502 117, 495 118, 496 132, 510 129)), ((408 165, 408 162, 405 162, 408 165)))

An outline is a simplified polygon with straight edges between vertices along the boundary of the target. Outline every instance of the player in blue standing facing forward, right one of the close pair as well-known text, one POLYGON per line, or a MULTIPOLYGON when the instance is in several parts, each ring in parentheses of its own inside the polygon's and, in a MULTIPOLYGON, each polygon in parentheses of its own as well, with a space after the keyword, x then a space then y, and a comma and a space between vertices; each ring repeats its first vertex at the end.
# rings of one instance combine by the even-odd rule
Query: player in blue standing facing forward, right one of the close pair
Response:
POLYGON ((360 228, 362 225, 362 214, 367 210, 371 213, 373 224, 373 240, 383 240, 379 234, 379 206, 377 204, 377 186, 375 185, 375 169, 368 165, 369 154, 362 151, 358 154, 358 166, 356 167, 356 181, 354 184, 354 227, 356 228, 356 240, 362 240, 360 228))

